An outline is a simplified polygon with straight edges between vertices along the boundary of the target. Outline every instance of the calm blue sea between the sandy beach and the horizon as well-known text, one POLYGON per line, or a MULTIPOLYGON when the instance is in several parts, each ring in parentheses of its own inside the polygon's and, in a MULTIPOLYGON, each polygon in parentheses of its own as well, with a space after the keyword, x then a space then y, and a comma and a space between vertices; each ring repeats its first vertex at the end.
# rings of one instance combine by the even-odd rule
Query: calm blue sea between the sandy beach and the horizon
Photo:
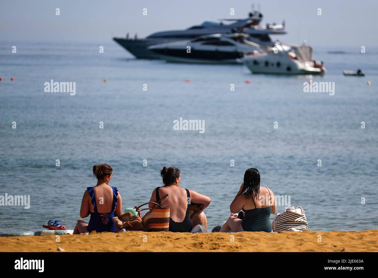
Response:
POLYGON ((163 166, 180 168, 181 186, 212 199, 210 229, 229 216, 250 167, 304 208, 309 230, 378 228, 378 48, 313 55, 328 70, 313 81, 335 82, 334 96, 304 93, 308 76, 136 60, 112 41, 1 42, 0 195, 30 195, 30 208, 1 206, 0 232, 42 230, 49 219, 73 229, 99 163, 114 169, 123 208, 149 200, 163 166), (357 68, 366 76, 342 75, 357 68), (76 82, 76 95, 44 92, 51 79, 76 82), (205 132, 174 130, 180 117, 204 120, 205 132))

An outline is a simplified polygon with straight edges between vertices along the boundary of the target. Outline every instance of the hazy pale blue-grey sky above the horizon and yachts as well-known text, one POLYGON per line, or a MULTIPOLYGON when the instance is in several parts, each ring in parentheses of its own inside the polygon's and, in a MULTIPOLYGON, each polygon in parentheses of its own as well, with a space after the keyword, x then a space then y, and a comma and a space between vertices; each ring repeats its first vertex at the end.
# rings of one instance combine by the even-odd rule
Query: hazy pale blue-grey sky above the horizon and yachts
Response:
MULTIPOLYGON (((263 23, 286 20, 285 42, 330 46, 376 46, 377 0, 260 1, 263 23), (317 9, 322 15, 317 15, 317 9)), ((251 2, 245 0, 1 0, 2 40, 110 42, 112 36, 186 29, 205 20, 246 17, 251 2), (60 8, 60 16, 55 9, 60 8), (143 16, 147 8, 147 16, 143 16)))

